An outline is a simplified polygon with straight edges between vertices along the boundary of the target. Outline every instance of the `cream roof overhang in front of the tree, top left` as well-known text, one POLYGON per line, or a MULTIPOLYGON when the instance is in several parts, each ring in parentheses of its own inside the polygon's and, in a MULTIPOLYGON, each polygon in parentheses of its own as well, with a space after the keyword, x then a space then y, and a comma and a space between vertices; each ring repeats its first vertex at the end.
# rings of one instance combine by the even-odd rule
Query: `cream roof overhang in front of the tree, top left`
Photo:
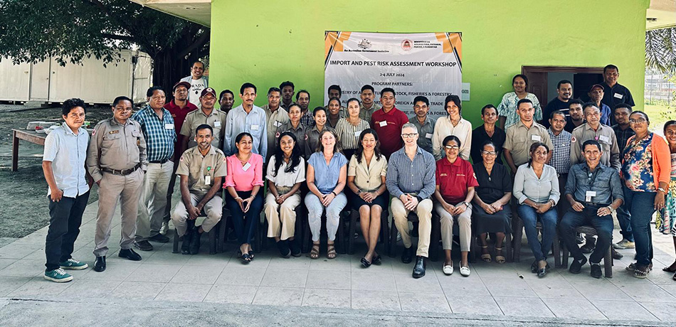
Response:
POLYGON ((130 0, 165 14, 211 26, 211 0, 130 0))

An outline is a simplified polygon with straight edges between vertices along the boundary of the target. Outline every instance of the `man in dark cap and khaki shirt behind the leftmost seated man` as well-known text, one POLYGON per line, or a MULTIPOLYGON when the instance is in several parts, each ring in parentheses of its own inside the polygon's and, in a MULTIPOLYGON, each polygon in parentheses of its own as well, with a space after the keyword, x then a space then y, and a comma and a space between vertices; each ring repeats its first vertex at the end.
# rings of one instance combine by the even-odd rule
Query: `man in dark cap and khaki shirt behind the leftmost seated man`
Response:
POLYGON ((201 124, 207 124, 213 129, 211 145, 216 147, 223 146, 223 133, 226 132, 227 114, 213 107, 216 104, 216 90, 213 90, 211 87, 202 90, 199 101, 201 109, 187 114, 186 120, 183 122, 183 126, 181 126, 181 135, 185 137, 181 142, 179 153, 183 153, 185 149, 197 145, 195 141, 195 129, 201 124))

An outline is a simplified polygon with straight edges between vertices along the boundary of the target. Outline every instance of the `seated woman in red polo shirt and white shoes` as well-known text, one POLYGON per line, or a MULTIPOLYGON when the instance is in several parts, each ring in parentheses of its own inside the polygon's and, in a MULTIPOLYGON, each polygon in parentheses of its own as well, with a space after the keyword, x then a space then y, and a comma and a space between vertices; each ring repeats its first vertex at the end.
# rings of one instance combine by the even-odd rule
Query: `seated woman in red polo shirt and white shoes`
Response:
POLYGON ((441 242, 445 254, 442 271, 447 275, 453 274, 450 250, 453 248, 453 220, 456 219, 460 227, 460 274, 468 277, 470 265, 467 254, 472 238, 470 201, 474 198, 474 188, 479 186, 479 183, 474 177, 472 164, 458 156, 462 146, 458 136, 446 136, 441 144, 446 155, 439 159, 436 165, 434 210, 441 218, 441 242))

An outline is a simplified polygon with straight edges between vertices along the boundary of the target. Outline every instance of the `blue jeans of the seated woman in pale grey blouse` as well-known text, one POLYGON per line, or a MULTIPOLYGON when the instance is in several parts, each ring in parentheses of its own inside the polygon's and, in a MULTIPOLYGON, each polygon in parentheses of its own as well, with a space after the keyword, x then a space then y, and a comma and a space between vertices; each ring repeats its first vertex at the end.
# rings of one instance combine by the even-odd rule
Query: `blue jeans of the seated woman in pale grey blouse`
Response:
POLYGON ((556 220, 558 219, 556 208, 552 207, 546 213, 536 213, 535 208, 519 205, 517 210, 519 217, 524 221, 528 245, 535 259, 546 260, 547 253, 551 250, 551 243, 554 242, 554 235, 556 235, 556 220), (542 242, 537 239, 537 228, 535 228, 537 218, 542 221, 542 242))

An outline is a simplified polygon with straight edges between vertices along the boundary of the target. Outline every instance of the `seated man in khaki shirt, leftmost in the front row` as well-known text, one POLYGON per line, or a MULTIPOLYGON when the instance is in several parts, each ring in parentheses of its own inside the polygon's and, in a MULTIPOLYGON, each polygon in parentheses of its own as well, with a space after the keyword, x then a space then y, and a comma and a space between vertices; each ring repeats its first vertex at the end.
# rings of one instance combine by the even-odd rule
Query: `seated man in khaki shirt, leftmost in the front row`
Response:
POLYGON ((181 200, 176 204, 171 220, 179 237, 186 235, 181 247, 184 254, 197 254, 201 234, 216 226, 223 215, 223 200, 216 193, 226 176, 226 156, 211 144, 212 131, 207 124, 196 128, 197 146, 184 152, 176 169, 176 175, 181 176, 181 200), (194 220, 202 209, 206 220, 194 228, 194 220), (189 220, 192 221, 190 230, 189 220))

